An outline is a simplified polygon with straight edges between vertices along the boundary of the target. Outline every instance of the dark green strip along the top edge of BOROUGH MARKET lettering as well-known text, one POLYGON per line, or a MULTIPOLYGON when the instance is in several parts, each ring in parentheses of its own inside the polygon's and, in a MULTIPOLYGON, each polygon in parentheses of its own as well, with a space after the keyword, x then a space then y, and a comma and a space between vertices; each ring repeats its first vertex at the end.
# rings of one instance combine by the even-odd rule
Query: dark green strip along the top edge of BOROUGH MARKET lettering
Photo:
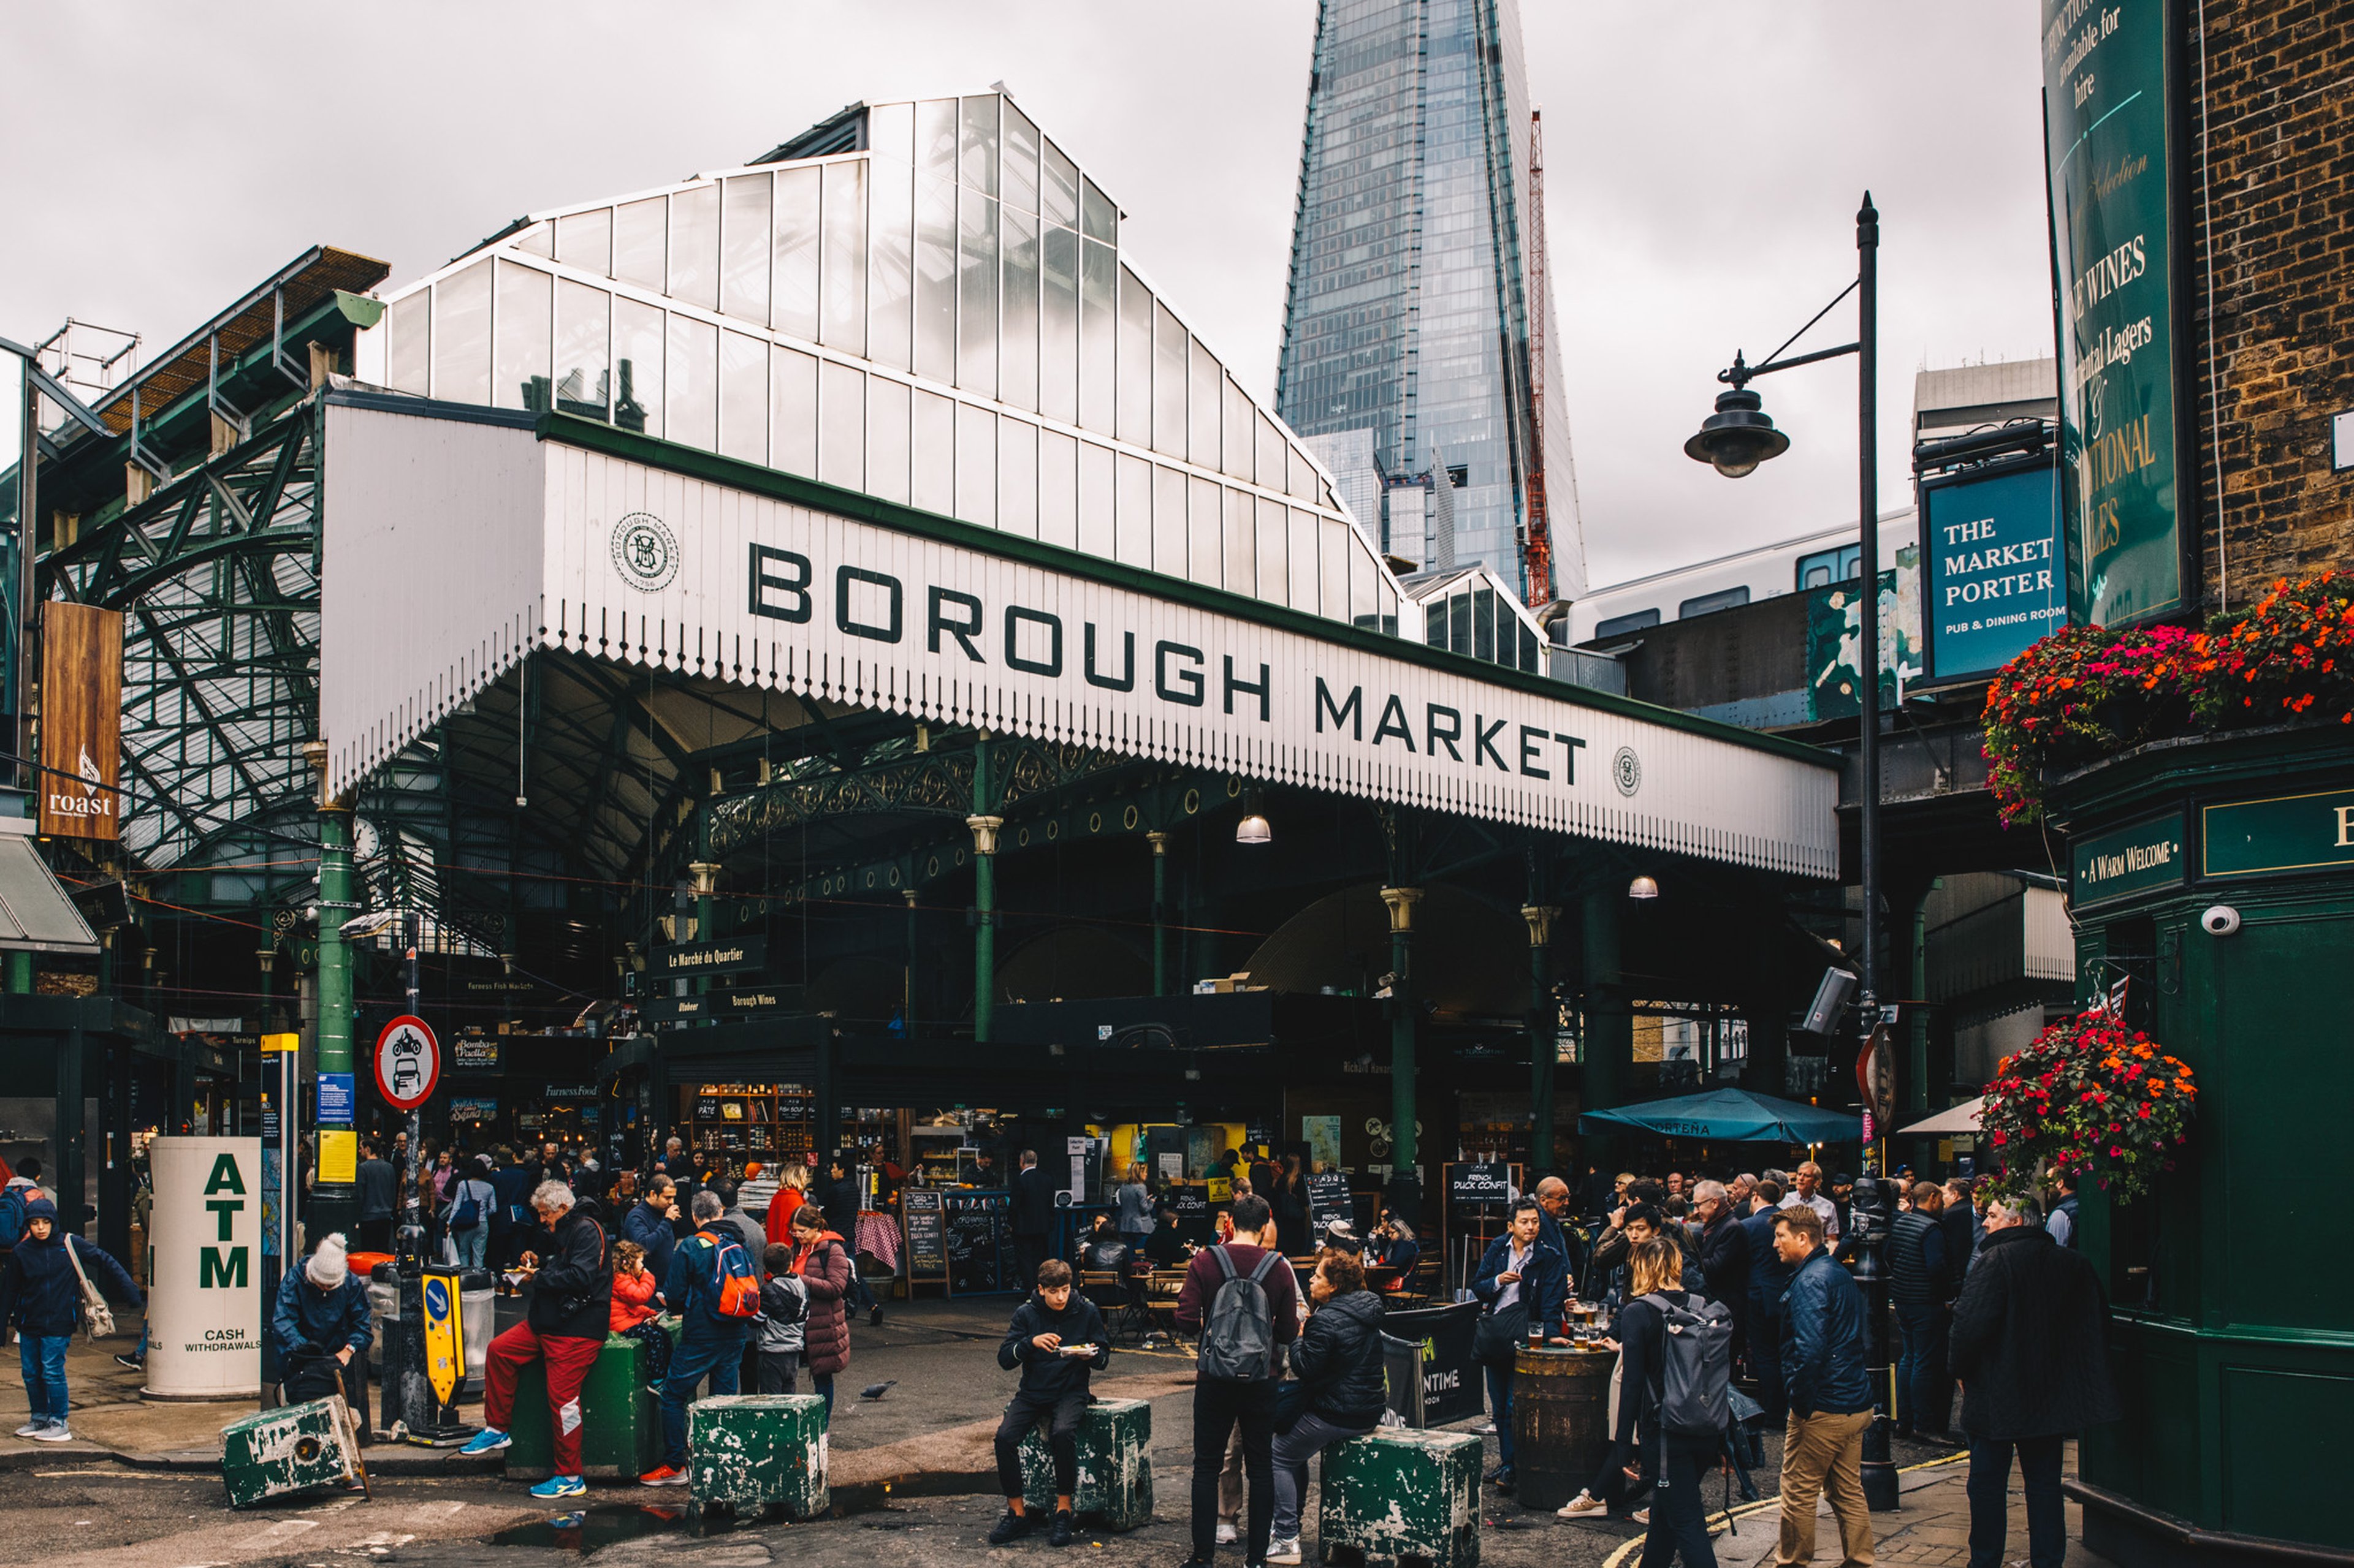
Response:
POLYGON ((1490 664, 1488 659, 1474 659, 1471 655, 1450 652, 1443 647, 1431 647, 1427 643, 1412 643, 1408 638, 1384 636, 1379 631, 1365 631, 1363 626, 1349 626, 1346 622, 1332 622, 1321 614, 1309 614, 1304 610, 1292 610, 1290 605, 1269 605, 1257 598, 1245 598, 1243 593, 1229 593, 1226 589, 1208 589, 1198 582, 1186 582, 1182 577, 1163 577, 1161 572, 1144 572, 1139 567, 1121 565, 1118 560, 1102 560, 1097 556, 1085 556, 1080 551, 1064 549, 1059 544, 1045 544, 1043 539, 1024 539, 1022 534, 1000 534, 993 527, 977 527, 972 523, 958 523, 956 518, 944 518, 930 511, 916 511, 913 506, 899 506, 895 501, 883 501, 857 490, 843 490, 838 485, 822 485, 796 473, 779 473, 763 464, 749 464, 734 457, 720 457, 716 452, 704 452, 699 447, 685 447, 673 440, 659 440, 654 436, 640 436, 638 431, 621 431, 596 419, 581 419, 579 414, 541 414, 539 438, 556 440, 567 447, 584 447, 588 452, 605 452, 607 457, 619 457, 633 464, 645 464, 650 469, 664 469, 669 473, 683 473, 687 478, 709 480, 713 485, 727 485, 730 490, 746 490, 751 494, 765 494, 779 501, 791 501, 793 506, 810 506, 814 511, 826 511, 838 518, 852 518, 857 523, 876 523, 880 527, 897 530, 902 534, 916 534, 920 539, 937 539, 939 544, 953 544, 956 549, 982 551, 986 556, 1003 556, 1008 560, 1022 560, 1064 577, 1085 577, 1116 589, 1132 589, 1137 593, 1149 593, 1153 598, 1193 605, 1198 610, 1210 610, 1212 614, 1224 614, 1238 622, 1257 622, 1262 626, 1274 626, 1278 631, 1295 631, 1321 643, 1332 643, 1337 647, 1356 647, 1363 652, 1382 655, 1384 659, 1403 659, 1408 664, 1422 664, 1427 669, 1443 671, 1457 678, 1483 680, 1488 685, 1499 685, 1516 692, 1530 692, 1535 697, 1551 697, 1554 702, 1568 702, 1572 706, 1594 709, 1601 713, 1620 713, 1624 718, 1636 718, 1667 730, 1683 730, 1688 735, 1704 735, 1709 739, 1721 739, 1733 746, 1747 746, 1751 751, 1763 751, 1768 756, 1782 756, 1794 763, 1813 763, 1815 768, 1838 768, 1841 758, 1820 746, 1806 746, 1801 742, 1782 739, 1777 735, 1758 735, 1754 730, 1742 730, 1737 725, 1718 723, 1714 718, 1697 718, 1676 709, 1662 709, 1648 702, 1636 702, 1634 697, 1617 697, 1612 692, 1596 692, 1591 687, 1570 685, 1568 680, 1554 680, 1549 676, 1535 676, 1518 669, 1504 669, 1502 664, 1490 664))

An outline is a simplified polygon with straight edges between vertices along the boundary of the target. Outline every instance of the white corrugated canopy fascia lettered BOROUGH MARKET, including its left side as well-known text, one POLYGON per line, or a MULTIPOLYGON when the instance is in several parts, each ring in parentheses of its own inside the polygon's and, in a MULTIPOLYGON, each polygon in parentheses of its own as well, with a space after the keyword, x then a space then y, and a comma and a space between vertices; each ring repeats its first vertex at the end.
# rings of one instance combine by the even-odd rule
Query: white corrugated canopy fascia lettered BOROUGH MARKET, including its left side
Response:
POLYGON ((330 398, 334 789, 527 650, 565 647, 1733 864, 1838 866, 1836 772, 1803 746, 607 426, 388 403, 330 398), (381 636, 393 610, 398 638, 381 636))

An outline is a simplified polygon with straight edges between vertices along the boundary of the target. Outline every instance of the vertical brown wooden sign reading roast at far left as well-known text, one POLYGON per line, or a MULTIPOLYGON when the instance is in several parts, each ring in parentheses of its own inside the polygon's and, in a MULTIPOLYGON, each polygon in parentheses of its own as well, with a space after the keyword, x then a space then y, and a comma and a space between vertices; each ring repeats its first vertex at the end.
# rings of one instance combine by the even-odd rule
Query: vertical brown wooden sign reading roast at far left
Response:
POLYGON ((122 836, 122 612, 40 607, 40 831, 122 836))

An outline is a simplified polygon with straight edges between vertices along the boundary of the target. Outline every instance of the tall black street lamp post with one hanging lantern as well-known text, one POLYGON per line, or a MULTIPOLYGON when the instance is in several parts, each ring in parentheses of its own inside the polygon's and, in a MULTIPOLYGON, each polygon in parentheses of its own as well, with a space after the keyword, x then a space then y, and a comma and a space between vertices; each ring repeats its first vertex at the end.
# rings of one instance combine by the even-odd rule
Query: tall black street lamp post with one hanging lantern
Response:
MULTIPOLYGON (((1857 490, 1857 570, 1862 574, 1857 605, 1857 742, 1855 763, 1857 772, 1857 873, 1864 885, 1864 942, 1862 942, 1862 996, 1855 1010, 1857 1048, 1871 1048, 1871 1031, 1881 1022, 1881 473, 1878 473, 1878 250, 1881 250, 1881 214, 1871 205, 1871 193, 1864 191, 1864 202, 1855 212, 1855 283, 1838 292, 1838 299, 1822 306, 1815 320, 1806 323, 1782 344, 1796 344, 1806 332, 1831 313, 1841 299, 1855 294, 1855 341, 1841 344, 1836 348, 1817 348, 1813 353, 1794 353, 1782 358, 1782 348, 1766 356, 1763 365, 1744 365, 1742 356, 1733 356, 1733 367, 1716 374, 1718 381, 1728 384, 1733 391, 1718 393, 1716 412, 1702 421, 1700 431, 1683 443, 1685 457, 1714 466, 1725 478, 1742 478, 1756 471, 1761 461, 1775 459, 1789 450, 1789 436, 1773 428, 1773 419, 1763 412, 1763 400, 1749 391, 1749 381, 1775 370, 1794 370, 1798 365, 1815 365, 1820 360, 1834 360, 1841 356, 1855 356, 1855 426, 1857 426, 1857 461, 1855 461, 1855 490, 1857 490)), ((1864 1177, 1860 1189, 1869 1182, 1869 1194, 1860 1191, 1860 1208, 1871 1208, 1871 1212, 1886 1212, 1888 1201, 1878 1187, 1878 1163, 1874 1158, 1871 1140, 1864 1140, 1864 1177), (1867 1203, 1869 1198, 1869 1203, 1867 1203)), ((1864 1497, 1874 1509, 1897 1507, 1897 1474, 1888 1455, 1888 1271, 1881 1267, 1878 1250, 1886 1241, 1886 1227, 1864 1227, 1869 1236, 1860 1238, 1864 1250, 1864 1267, 1860 1278, 1864 1281, 1864 1293, 1869 1311, 1874 1318, 1871 1344, 1871 1387, 1878 1391, 1876 1417, 1864 1431, 1864 1497)))

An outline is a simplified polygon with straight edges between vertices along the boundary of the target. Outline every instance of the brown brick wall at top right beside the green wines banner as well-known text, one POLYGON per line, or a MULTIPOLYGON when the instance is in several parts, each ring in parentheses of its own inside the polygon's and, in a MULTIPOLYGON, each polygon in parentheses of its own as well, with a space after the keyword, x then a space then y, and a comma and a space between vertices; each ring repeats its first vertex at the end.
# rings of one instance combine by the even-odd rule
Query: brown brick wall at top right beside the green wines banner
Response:
POLYGON ((2330 417, 2354 410, 2354 2, 2206 0, 2203 170, 2196 12, 2185 0, 2196 313, 2182 391, 2208 459, 2199 539, 2213 610, 2283 574, 2354 567, 2354 471, 2330 471, 2330 417))

